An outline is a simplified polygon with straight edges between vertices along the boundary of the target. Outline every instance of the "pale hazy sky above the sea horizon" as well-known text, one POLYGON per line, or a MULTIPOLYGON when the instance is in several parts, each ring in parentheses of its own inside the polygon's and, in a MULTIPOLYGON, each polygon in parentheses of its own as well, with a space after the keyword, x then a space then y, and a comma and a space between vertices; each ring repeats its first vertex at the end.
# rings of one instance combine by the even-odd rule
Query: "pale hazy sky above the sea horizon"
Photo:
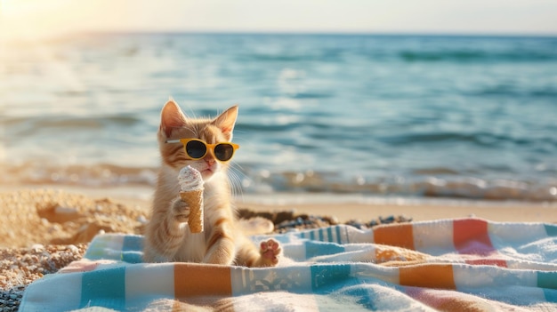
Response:
POLYGON ((0 0, 4 38, 85 31, 557 36, 555 0, 0 0))

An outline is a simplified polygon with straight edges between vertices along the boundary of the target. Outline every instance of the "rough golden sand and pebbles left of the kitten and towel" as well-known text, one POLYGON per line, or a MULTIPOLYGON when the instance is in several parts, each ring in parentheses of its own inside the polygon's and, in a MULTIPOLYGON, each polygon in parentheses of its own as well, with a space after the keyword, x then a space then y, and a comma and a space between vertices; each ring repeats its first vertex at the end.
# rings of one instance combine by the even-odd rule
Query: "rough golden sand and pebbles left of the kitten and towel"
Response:
POLYGON ((0 311, 17 311, 26 286, 83 257, 103 232, 141 233, 147 211, 53 189, 0 190, 0 311))

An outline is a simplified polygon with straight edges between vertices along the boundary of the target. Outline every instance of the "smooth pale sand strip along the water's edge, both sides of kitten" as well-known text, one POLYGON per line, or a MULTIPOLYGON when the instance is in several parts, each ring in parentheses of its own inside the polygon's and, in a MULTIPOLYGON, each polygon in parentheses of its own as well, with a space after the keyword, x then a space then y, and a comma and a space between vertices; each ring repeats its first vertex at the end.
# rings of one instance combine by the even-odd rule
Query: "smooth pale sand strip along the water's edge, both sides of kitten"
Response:
MULTIPOLYGON (((92 199, 108 198, 146 215, 150 213, 154 192, 154 188, 133 185, 114 188, 86 188, 60 184, 0 185, 0 193, 36 189, 61 191, 92 199)), ((402 215, 414 221, 474 216, 504 222, 557 222, 557 203, 331 193, 245 194, 235 196, 235 203, 238 208, 247 208, 254 212, 295 211, 301 214, 335 217, 339 222, 368 221, 393 215, 402 215)))

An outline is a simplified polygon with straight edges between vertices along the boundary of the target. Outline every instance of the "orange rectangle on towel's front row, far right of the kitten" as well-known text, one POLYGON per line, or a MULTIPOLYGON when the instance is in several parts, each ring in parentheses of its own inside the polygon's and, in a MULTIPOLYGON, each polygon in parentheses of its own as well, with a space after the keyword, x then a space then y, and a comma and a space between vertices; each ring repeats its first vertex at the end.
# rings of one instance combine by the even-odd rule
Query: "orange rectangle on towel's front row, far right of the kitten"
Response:
POLYGON ((450 264, 422 264, 399 268, 400 284, 405 286, 456 289, 450 264))

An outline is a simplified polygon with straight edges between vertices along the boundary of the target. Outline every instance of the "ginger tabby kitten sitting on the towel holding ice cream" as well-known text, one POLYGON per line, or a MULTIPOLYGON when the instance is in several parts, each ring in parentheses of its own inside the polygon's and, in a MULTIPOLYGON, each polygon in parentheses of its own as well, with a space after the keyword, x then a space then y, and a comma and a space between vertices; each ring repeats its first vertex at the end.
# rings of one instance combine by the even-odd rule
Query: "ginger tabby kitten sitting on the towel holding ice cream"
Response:
POLYGON ((162 158, 152 215, 145 233, 143 259, 146 262, 201 262, 246 267, 271 267, 278 263, 280 246, 274 239, 255 245, 238 228, 232 204, 229 164, 215 158, 208 148, 195 160, 186 154, 182 143, 166 140, 198 139, 208 144, 230 142, 238 107, 234 106, 214 119, 190 118, 174 100, 161 113, 157 133, 162 158), (179 196, 176 177, 182 167, 190 165, 201 172, 205 182, 205 231, 190 233, 190 209, 179 196))

